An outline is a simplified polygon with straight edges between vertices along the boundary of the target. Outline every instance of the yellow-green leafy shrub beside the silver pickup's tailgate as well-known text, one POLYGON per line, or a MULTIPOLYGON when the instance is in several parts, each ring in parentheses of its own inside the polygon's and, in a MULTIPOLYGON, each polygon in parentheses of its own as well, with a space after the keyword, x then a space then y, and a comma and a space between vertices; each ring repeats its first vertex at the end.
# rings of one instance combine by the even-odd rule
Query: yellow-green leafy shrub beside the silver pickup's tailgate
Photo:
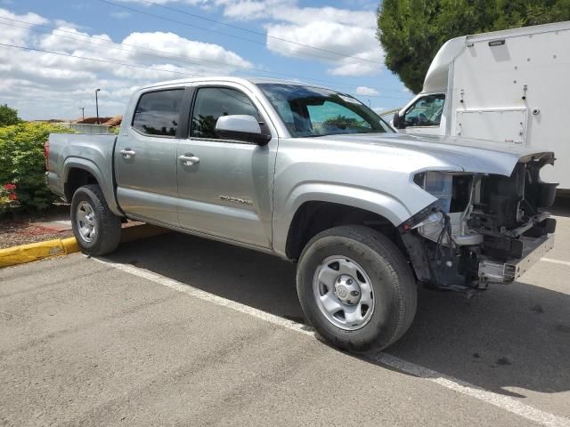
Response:
POLYGON ((4 210, 37 211, 52 204, 57 197, 45 185, 44 143, 50 133, 69 132, 47 123, 0 127, 0 186, 15 184, 17 193, 12 194, 18 197, 17 204, 4 205, 4 210))

